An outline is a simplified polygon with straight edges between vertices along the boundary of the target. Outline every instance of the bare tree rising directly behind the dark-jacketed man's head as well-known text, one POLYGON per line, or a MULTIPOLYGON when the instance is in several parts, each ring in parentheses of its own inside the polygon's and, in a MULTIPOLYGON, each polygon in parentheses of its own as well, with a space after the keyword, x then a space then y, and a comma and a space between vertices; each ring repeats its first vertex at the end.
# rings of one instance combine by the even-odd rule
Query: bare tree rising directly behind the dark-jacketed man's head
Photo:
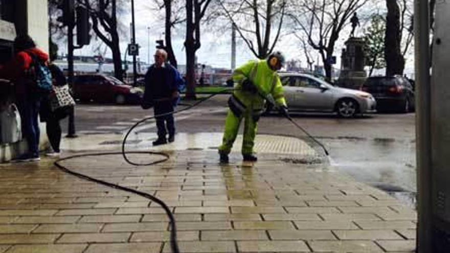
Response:
POLYGON ((178 0, 154 0, 154 2, 159 10, 164 9, 164 39, 167 58, 170 64, 177 67, 178 63, 172 47, 172 28, 186 21, 186 16, 183 17, 185 6, 182 5, 182 1, 178 0))

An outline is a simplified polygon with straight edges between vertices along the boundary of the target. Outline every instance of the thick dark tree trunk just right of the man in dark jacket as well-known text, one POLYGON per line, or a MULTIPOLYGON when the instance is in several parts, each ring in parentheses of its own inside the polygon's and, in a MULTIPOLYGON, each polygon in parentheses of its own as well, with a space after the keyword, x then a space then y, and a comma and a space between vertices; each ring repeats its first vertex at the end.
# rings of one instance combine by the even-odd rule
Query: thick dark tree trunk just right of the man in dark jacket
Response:
POLYGON ((200 22, 211 0, 186 1, 186 98, 195 99, 195 52, 200 48, 200 22))

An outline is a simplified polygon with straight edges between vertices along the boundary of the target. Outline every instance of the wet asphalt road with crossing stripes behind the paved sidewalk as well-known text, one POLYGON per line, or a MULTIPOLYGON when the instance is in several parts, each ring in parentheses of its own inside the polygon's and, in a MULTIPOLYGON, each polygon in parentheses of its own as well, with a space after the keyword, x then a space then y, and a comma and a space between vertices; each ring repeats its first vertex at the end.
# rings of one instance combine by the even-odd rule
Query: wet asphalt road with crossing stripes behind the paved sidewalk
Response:
MULTIPOLYGON (((178 114, 177 131, 221 132, 227 99, 228 96, 214 97, 178 114)), ((185 107, 178 107, 182 108, 185 107)), ((76 129, 79 133, 121 132, 129 127, 131 121, 151 115, 152 110, 142 110, 139 106, 82 104, 76 108, 76 129)), ((407 203, 414 202, 414 113, 369 114, 341 119, 331 114, 292 112, 292 118, 327 147, 338 170, 386 190, 407 203)), ((66 130, 66 123, 63 124, 63 130, 66 130)), ((144 131, 155 131, 154 124, 144 131)), ((289 121, 277 115, 262 117, 258 132, 308 139, 289 121)))

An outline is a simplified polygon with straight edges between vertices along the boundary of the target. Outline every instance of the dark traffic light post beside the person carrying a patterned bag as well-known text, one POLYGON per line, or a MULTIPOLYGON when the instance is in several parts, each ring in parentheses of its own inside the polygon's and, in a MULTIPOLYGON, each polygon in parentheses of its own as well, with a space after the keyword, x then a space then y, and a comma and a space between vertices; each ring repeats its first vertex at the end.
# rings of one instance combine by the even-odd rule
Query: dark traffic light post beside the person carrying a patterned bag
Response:
MULTIPOLYGON (((72 11, 73 13, 73 11, 72 11)), ((68 38, 67 38, 67 64, 68 64, 68 83, 69 87, 73 88, 73 80, 74 80, 74 17, 73 14, 69 14, 69 22, 68 22, 68 38)), ((75 109, 69 112, 69 121, 68 121, 68 133, 65 135, 68 138, 75 138, 77 134, 75 133, 75 109)))

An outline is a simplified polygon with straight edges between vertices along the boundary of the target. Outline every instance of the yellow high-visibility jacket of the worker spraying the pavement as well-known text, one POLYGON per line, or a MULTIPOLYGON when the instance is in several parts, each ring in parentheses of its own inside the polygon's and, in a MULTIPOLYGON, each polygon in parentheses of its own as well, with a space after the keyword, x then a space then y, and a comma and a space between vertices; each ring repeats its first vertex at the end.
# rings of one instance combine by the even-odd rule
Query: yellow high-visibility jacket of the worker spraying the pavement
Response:
POLYGON ((235 84, 234 96, 242 102, 247 109, 258 111, 264 108, 265 99, 258 94, 242 90, 242 82, 249 79, 264 97, 271 94, 277 105, 286 106, 283 95, 283 85, 276 71, 273 71, 267 60, 252 60, 236 68, 233 73, 235 84))

